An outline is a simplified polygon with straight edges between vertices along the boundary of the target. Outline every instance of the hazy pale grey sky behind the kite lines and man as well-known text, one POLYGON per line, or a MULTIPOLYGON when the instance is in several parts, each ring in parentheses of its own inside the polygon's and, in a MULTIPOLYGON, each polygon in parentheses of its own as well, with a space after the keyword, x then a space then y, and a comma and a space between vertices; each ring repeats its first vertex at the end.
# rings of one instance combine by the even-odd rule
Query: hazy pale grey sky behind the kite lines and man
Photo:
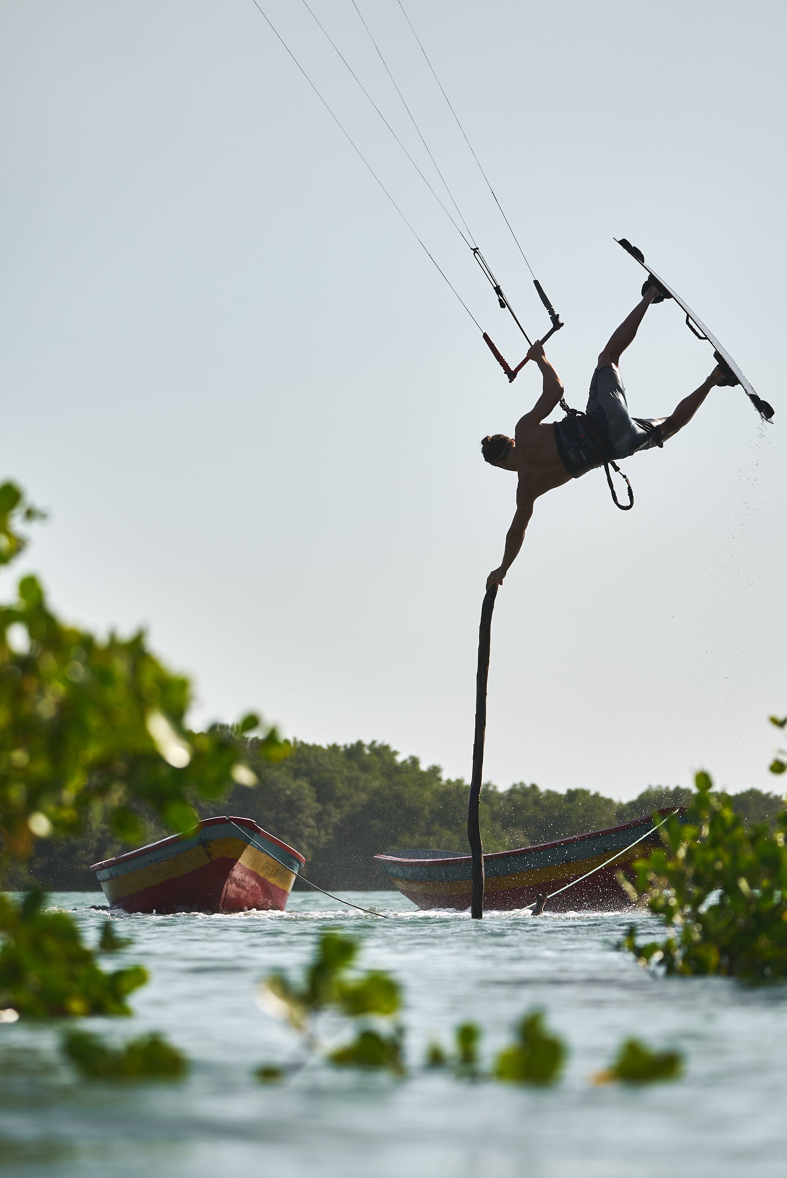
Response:
MULTIPOLYGON (((512 360, 516 329, 300 0, 260 0, 512 360)), ((497 272, 548 320, 396 0, 358 0, 497 272)), ((313 0, 424 171, 350 0, 313 0)), ((712 393, 536 505, 497 597, 485 776, 629 798, 708 767, 775 788, 785 689, 785 70, 775 2, 405 0, 566 327, 584 406, 639 298, 626 236, 775 406, 712 393)), ((249 707, 469 776, 477 627, 515 384, 252 0, 0 5, 2 472, 51 510, 27 564, 91 627, 150 628, 194 722, 249 707)), ((423 161, 423 163, 422 163, 423 161)), ((432 176, 434 173, 429 173, 432 176)), ((622 363, 668 413, 713 366, 674 304, 622 363)), ((8 574, 6 574, 8 589, 8 574)))

